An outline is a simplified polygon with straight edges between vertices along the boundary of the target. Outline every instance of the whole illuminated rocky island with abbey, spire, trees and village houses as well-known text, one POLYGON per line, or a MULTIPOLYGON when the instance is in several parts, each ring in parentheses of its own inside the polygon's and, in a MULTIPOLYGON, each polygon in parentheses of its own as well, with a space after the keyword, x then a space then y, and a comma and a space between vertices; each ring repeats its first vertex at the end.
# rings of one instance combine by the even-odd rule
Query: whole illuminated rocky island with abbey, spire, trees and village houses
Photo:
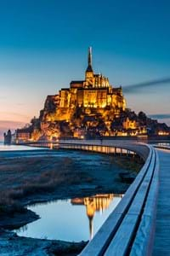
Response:
POLYGON ((84 79, 71 81, 56 95, 47 96, 39 118, 18 129, 16 141, 51 140, 58 137, 139 136, 169 133, 165 124, 134 113, 126 107, 122 87, 111 86, 101 73, 95 74, 92 49, 88 49, 88 65, 84 79))

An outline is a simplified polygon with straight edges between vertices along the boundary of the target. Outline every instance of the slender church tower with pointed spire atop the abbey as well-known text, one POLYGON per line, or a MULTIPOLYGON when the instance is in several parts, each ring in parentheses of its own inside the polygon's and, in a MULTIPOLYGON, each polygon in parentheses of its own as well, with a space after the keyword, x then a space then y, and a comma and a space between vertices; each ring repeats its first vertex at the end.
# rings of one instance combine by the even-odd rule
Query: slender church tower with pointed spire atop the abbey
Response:
POLYGON ((93 86, 94 84, 94 70, 92 67, 92 47, 88 48, 88 67, 85 73, 86 85, 93 86))

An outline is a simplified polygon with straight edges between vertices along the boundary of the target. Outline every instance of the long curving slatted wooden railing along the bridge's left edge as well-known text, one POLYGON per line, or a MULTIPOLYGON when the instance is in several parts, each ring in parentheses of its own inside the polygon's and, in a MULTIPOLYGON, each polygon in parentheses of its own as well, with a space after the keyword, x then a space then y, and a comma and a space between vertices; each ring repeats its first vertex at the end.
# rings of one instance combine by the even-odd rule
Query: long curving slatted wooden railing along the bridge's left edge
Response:
MULTIPOLYGON (((61 147, 68 147, 61 143, 61 147)), ((144 166, 129 189, 80 254, 81 256, 150 255, 156 224, 159 160, 155 148, 139 143, 70 143, 70 148, 95 151, 93 147, 124 148, 145 160, 144 166)), ((108 149, 108 148, 110 149, 108 149)), ((115 149, 112 149, 115 150, 115 149)), ((101 151, 100 151, 101 152, 101 151)))

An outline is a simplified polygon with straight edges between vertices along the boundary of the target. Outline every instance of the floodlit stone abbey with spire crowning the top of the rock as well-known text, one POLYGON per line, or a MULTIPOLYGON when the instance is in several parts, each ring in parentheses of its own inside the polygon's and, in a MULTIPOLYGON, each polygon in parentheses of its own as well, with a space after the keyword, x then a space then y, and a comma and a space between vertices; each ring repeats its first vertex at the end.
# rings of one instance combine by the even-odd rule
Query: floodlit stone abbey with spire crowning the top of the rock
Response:
POLYGON ((115 113, 126 108, 122 88, 113 88, 109 79, 102 74, 95 74, 92 67, 92 48, 88 49, 88 67, 85 79, 71 81, 70 88, 59 91, 60 108, 106 108, 115 113))

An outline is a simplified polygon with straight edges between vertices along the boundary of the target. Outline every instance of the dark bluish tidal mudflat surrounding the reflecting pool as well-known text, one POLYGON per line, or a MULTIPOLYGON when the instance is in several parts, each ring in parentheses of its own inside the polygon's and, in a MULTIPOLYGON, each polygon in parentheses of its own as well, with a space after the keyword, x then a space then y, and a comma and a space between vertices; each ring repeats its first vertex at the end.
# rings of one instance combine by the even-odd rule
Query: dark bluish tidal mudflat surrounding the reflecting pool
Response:
POLYGON ((36 202, 96 194, 124 194, 128 184, 122 183, 119 173, 133 167, 138 170, 140 166, 124 158, 117 160, 111 155, 81 151, 43 149, 1 152, 1 251, 8 255, 33 255, 35 252, 35 255, 76 255, 85 242, 19 237, 9 230, 39 218, 35 212, 26 209, 27 205, 36 202))

